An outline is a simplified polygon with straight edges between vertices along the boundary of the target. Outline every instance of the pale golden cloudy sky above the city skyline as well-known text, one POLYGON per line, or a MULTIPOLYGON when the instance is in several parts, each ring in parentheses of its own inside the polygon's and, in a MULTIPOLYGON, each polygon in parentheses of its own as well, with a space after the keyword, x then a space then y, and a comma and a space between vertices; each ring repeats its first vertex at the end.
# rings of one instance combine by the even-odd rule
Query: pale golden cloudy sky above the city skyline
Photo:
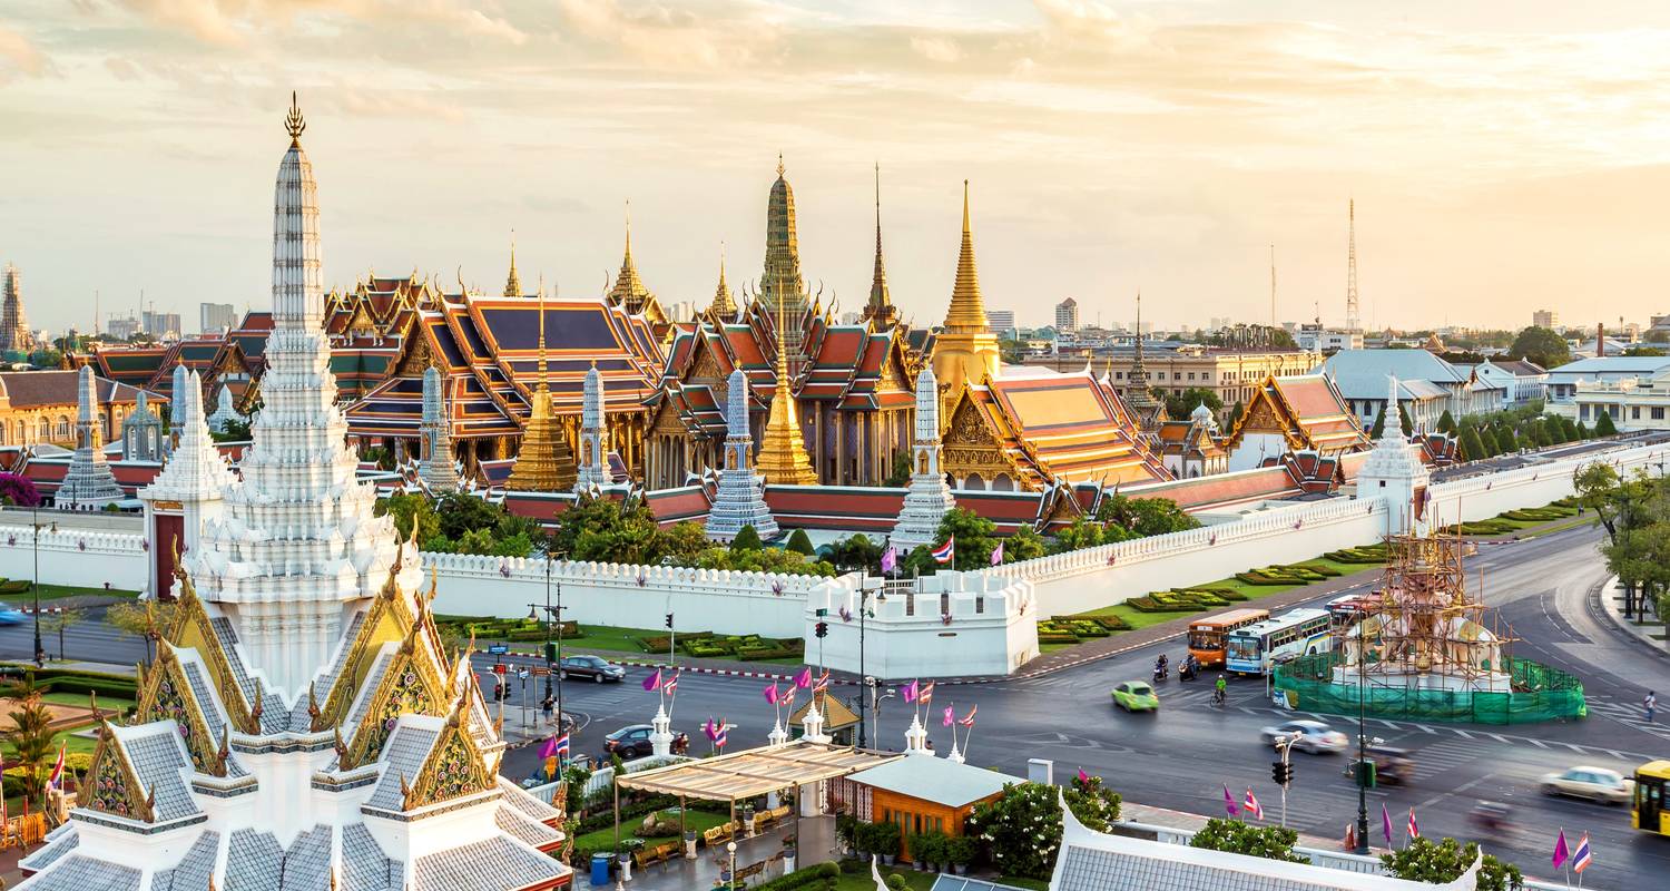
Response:
POLYGON ((802 266, 944 318, 962 181, 989 308, 1376 328, 1670 313, 1670 5, 1518 0, 10 0, 0 262, 37 328, 271 303, 291 90, 326 283, 663 303, 802 266), (514 232, 514 236, 513 236, 514 232))

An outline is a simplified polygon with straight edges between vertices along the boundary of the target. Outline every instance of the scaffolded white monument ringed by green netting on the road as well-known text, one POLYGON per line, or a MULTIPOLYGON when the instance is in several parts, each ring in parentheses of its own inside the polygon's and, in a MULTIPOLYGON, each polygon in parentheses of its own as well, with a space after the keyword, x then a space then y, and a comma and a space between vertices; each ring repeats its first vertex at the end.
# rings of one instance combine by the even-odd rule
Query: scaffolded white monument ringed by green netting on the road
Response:
POLYGON ((1453 535, 1393 535, 1384 583, 1339 627, 1329 654, 1276 669, 1294 709, 1374 717, 1520 724, 1583 717, 1583 684, 1513 659, 1511 627, 1468 593, 1473 545, 1453 535))

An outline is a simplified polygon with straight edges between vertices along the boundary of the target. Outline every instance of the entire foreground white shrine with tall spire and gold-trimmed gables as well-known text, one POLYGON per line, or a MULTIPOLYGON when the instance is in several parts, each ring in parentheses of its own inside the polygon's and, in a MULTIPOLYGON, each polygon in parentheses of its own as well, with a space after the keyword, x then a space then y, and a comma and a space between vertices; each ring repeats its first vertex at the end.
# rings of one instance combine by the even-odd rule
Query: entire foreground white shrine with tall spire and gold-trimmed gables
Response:
POLYGON ((549 856, 561 814, 498 776, 504 742, 469 652, 446 647, 416 542, 354 478, 294 105, 286 124, 266 406, 242 478, 192 406, 175 450, 192 466, 159 485, 219 510, 180 555, 135 717, 100 717, 77 806, 18 888, 556 888, 571 879, 549 856))

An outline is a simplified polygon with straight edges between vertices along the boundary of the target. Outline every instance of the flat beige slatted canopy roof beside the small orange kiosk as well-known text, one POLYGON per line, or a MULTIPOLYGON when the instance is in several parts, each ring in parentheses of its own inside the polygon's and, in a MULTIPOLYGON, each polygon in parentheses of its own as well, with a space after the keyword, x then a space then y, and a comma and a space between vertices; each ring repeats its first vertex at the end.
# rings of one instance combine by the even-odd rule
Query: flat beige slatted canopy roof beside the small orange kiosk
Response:
POLYGON ((890 761, 900 754, 867 752, 845 746, 795 741, 783 746, 670 764, 653 771, 626 774, 618 787, 661 792, 706 801, 740 801, 837 779, 890 761))

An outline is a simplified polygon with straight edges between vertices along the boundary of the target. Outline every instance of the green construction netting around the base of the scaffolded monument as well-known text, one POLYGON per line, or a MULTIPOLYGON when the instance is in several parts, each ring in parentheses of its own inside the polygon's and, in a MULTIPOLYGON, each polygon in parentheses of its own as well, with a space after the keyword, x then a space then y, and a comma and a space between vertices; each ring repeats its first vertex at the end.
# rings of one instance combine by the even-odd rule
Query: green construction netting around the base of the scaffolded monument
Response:
POLYGON ((1510 660, 1513 692, 1411 690, 1404 687, 1334 684, 1339 654, 1318 654, 1276 667, 1274 685, 1301 712, 1404 720, 1466 720, 1473 724, 1533 724, 1588 714, 1583 682, 1568 672, 1525 659, 1510 660))

